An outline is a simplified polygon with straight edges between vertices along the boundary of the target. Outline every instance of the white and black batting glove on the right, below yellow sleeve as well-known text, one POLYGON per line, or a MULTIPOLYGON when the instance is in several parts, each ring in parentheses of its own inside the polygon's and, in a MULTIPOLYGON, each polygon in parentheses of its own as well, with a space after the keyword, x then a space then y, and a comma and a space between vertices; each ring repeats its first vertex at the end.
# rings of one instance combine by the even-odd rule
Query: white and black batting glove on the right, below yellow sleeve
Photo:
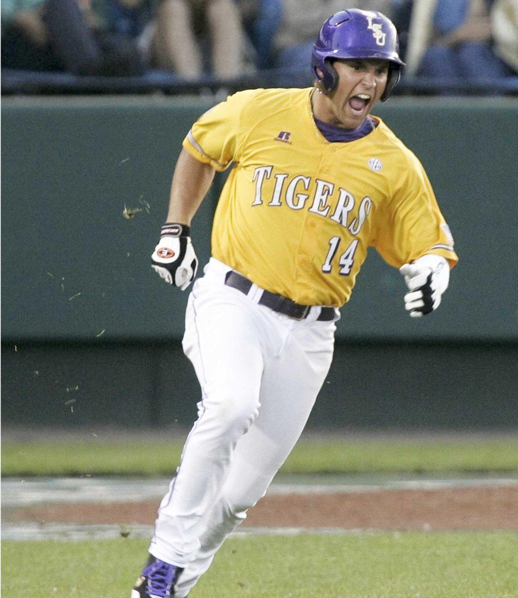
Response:
POLYGON ((404 309, 412 318, 433 312, 448 287, 450 266, 440 255, 427 254, 399 269, 409 293, 404 295, 404 309))

